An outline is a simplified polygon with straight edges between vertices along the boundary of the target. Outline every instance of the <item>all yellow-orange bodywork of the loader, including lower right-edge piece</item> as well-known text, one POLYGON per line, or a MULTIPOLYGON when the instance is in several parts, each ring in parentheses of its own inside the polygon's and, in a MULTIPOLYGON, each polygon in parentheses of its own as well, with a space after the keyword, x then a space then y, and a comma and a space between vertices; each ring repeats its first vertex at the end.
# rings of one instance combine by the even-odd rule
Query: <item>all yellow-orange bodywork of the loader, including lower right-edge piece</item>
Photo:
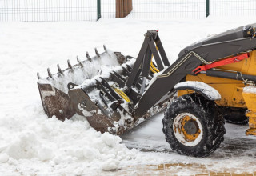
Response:
MULTIPOLYGON (((219 66, 217 69, 256 75, 256 50, 250 52, 250 58, 226 66, 219 66)), ((250 128, 246 130, 246 134, 256 135, 256 94, 243 92, 245 87, 243 81, 210 77, 206 74, 198 74, 197 76, 188 74, 186 81, 205 82, 218 90, 222 96, 220 100, 215 101, 218 106, 247 108, 246 116, 249 117, 250 128)), ((178 96, 192 92, 193 90, 178 90, 178 96)))

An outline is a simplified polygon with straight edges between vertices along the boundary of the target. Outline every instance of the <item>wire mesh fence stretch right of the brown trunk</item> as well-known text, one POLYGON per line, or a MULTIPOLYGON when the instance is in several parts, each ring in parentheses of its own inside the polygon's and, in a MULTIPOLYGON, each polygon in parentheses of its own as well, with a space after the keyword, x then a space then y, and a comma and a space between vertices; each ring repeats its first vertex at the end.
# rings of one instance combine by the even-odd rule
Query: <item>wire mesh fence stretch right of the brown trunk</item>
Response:
POLYGON ((127 18, 206 18, 209 15, 254 17, 256 0, 133 0, 133 10, 127 18))

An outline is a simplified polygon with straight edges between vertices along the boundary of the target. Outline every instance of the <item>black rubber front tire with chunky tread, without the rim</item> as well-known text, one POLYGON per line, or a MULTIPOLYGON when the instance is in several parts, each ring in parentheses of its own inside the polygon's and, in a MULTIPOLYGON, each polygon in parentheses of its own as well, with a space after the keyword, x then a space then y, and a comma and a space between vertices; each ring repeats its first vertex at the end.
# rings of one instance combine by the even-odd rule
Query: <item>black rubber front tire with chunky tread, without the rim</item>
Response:
POLYGON ((216 107, 214 101, 209 101, 200 94, 185 94, 176 98, 167 108, 162 120, 162 131, 171 149, 178 154, 193 157, 206 157, 213 153, 223 142, 226 133, 224 118, 216 107), (181 113, 193 114, 202 124, 202 139, 195 146, 185 146, 175 137, 174 118, 181 113))

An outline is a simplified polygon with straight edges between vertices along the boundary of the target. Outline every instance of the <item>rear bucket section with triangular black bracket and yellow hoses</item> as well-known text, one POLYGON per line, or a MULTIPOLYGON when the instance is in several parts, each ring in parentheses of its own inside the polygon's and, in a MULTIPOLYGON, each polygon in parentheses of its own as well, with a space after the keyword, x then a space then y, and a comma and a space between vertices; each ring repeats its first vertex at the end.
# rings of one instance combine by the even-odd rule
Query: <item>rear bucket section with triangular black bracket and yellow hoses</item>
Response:
POLYGON ((132 59, 110 73, 86 80, 82 85, 68 85, 74 109, 85 116, 94 129, 102 133, 123 134, 166 108, 173 94, 162 98, 142 116, 134 114, 142 94, 154 82, 157 72, 160 74, 164 70, 162 62, 166 67, 170 66, 158 32, 150 30, 136 61, 132 59), (153 57, 156 63, 152 62, 153 57))

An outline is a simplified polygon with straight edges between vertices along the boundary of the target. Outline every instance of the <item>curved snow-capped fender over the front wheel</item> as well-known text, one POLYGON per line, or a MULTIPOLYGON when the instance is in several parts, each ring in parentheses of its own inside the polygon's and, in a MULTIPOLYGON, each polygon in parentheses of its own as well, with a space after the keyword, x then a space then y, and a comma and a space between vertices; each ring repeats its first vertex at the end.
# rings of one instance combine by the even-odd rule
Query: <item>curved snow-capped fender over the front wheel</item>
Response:
POLYGON ((218 90, 215 90, 212 86, 209 86, 204 82, 193 82, 193 81, 179 82, 174 86, 174 89, 178 90, 179 88, 186 88, 186 87, 189 87, 188 89, 202 91, 202 93, 205 94, 208 98, 210 98, 210 100, 221 99, 221 94, 218 93, 218 90))

